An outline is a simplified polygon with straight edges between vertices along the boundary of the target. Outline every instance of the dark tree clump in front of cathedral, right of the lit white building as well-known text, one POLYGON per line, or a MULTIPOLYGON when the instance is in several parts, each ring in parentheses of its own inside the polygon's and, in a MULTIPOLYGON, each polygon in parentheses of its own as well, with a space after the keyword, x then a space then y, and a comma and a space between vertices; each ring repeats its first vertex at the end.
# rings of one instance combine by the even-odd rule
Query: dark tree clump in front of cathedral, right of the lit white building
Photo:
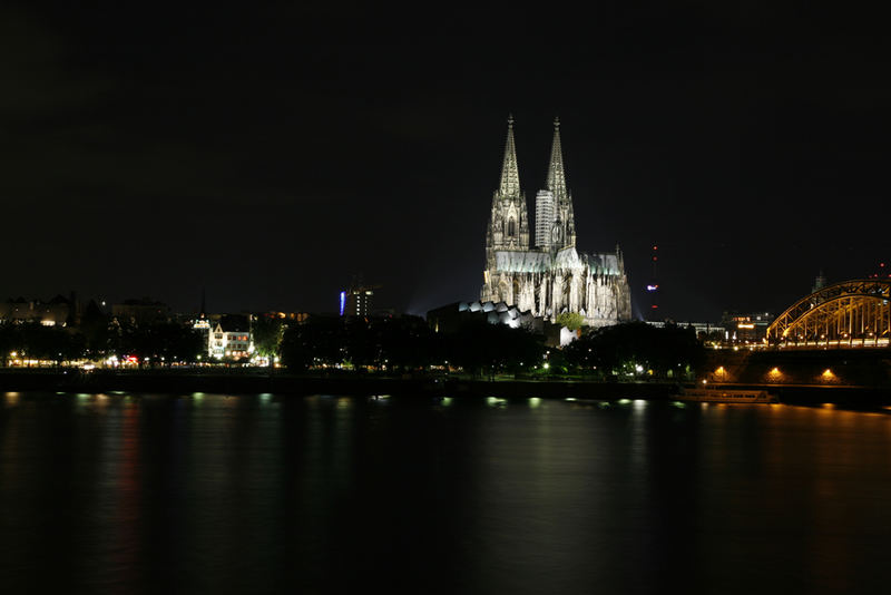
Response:
POLYGON ((692 328, 631 322, 581 329, 565 349, 548 348, 526 329, 471 320, 451 333, 423 319, 310 318, 284 331, 281 358, 291 370, 320 365, 408 371, 431 365, 476 375, 584 375, 678 378, 695 372, 705 351, 692 328))

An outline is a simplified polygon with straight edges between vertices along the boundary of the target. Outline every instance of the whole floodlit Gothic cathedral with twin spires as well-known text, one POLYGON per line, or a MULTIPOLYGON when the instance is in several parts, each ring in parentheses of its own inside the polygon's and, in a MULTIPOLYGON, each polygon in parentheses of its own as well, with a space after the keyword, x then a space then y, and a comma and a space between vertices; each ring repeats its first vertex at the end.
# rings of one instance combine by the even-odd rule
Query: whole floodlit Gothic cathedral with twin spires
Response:
POLYGON ((554 121, 546 187, 536 194, 535 227, 520 189, 513 118, 501 166, 501 184, 492 197, 486 232, 482 302, 505 302, 554 321, 578 312, 590 326, 630 320, 631 298, 621 251, 585 254, 576 250, 572 195, 566 188, 560 121, 554 121), (535 245, 530 247, 530 230, 535 245))

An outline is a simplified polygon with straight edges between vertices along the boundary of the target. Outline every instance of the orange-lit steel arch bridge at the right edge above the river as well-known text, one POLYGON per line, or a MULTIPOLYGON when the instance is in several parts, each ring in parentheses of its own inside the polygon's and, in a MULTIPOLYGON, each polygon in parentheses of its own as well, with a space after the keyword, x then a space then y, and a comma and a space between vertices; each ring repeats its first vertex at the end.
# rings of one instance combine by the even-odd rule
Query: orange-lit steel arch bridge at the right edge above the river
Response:
POLYGON ((767 342, 787 347, 889 347, 891 280, 826 285, 795 302, 767 326, 767 342))

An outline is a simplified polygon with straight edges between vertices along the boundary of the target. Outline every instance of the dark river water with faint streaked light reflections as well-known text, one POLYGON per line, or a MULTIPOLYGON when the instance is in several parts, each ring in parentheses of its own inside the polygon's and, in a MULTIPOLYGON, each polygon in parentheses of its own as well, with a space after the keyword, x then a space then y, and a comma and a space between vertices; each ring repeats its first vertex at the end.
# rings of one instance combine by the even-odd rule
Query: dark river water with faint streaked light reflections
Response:
POLYGON ((0 393, 3 593, 882 593, 891 417, 0 393))

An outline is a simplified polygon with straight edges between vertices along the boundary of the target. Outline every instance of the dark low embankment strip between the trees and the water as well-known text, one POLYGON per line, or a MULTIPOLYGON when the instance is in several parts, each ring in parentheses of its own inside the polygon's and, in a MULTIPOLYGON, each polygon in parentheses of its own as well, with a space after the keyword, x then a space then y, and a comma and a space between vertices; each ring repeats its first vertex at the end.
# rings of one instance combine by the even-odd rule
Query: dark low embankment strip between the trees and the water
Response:
MULTIPOLYGON (((709 384, 719 388, 721 384, 709 384)), ((891 406, 891 388, 815 384, 725 384, 735 389, 761 389, 784 403, 833 402, 845 406, 891 406)), ((648 399, 668 400, 677 393, 674 382, 601 382, 569 380, 469 380, 456 377, 393 378, 376 375, 296 375, 265 370, 221 373, 143 370, 0 370, 0 391, 227 393, 227 394, 344 394, 499 397, 545 399, 648 399)))

